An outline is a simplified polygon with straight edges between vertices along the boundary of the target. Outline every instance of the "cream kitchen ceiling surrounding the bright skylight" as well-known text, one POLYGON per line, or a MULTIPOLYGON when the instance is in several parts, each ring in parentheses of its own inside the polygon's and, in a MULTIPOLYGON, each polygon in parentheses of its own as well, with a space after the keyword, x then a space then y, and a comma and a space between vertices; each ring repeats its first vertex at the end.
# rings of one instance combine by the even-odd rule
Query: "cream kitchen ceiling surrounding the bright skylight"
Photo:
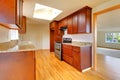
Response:
POLYGON ((93 8, 99 4, 104 3, 105 1, 109 0, 24 0, 23 15, 27 16, 28 18, 27 21, 30 23, 32 22, 35 24, 39 23, 46 24, 49 23, 50 21, 33 18, 35 3, 40 3, 42 5, 62 10, 63 13, 61 13, 54 19, 60 20, 86 5, 93 8))

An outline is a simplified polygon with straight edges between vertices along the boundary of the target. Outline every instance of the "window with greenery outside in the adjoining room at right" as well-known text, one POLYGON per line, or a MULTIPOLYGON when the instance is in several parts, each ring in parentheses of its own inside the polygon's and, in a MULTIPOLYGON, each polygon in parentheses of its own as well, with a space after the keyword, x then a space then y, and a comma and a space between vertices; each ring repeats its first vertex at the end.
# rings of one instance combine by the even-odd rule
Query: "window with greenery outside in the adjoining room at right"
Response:
POLYGON ((120 43, 120 33, 105 33, 106 43, 120 43))

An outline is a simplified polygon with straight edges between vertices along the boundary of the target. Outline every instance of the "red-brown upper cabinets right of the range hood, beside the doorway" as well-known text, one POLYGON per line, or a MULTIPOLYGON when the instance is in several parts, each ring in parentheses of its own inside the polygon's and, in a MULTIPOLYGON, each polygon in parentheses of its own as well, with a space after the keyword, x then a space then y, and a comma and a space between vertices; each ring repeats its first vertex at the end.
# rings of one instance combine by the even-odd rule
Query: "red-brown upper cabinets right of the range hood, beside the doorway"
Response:
POLYGON ((91 32, 91 8, 84 7, 67 17, 68 34, 91 32))

